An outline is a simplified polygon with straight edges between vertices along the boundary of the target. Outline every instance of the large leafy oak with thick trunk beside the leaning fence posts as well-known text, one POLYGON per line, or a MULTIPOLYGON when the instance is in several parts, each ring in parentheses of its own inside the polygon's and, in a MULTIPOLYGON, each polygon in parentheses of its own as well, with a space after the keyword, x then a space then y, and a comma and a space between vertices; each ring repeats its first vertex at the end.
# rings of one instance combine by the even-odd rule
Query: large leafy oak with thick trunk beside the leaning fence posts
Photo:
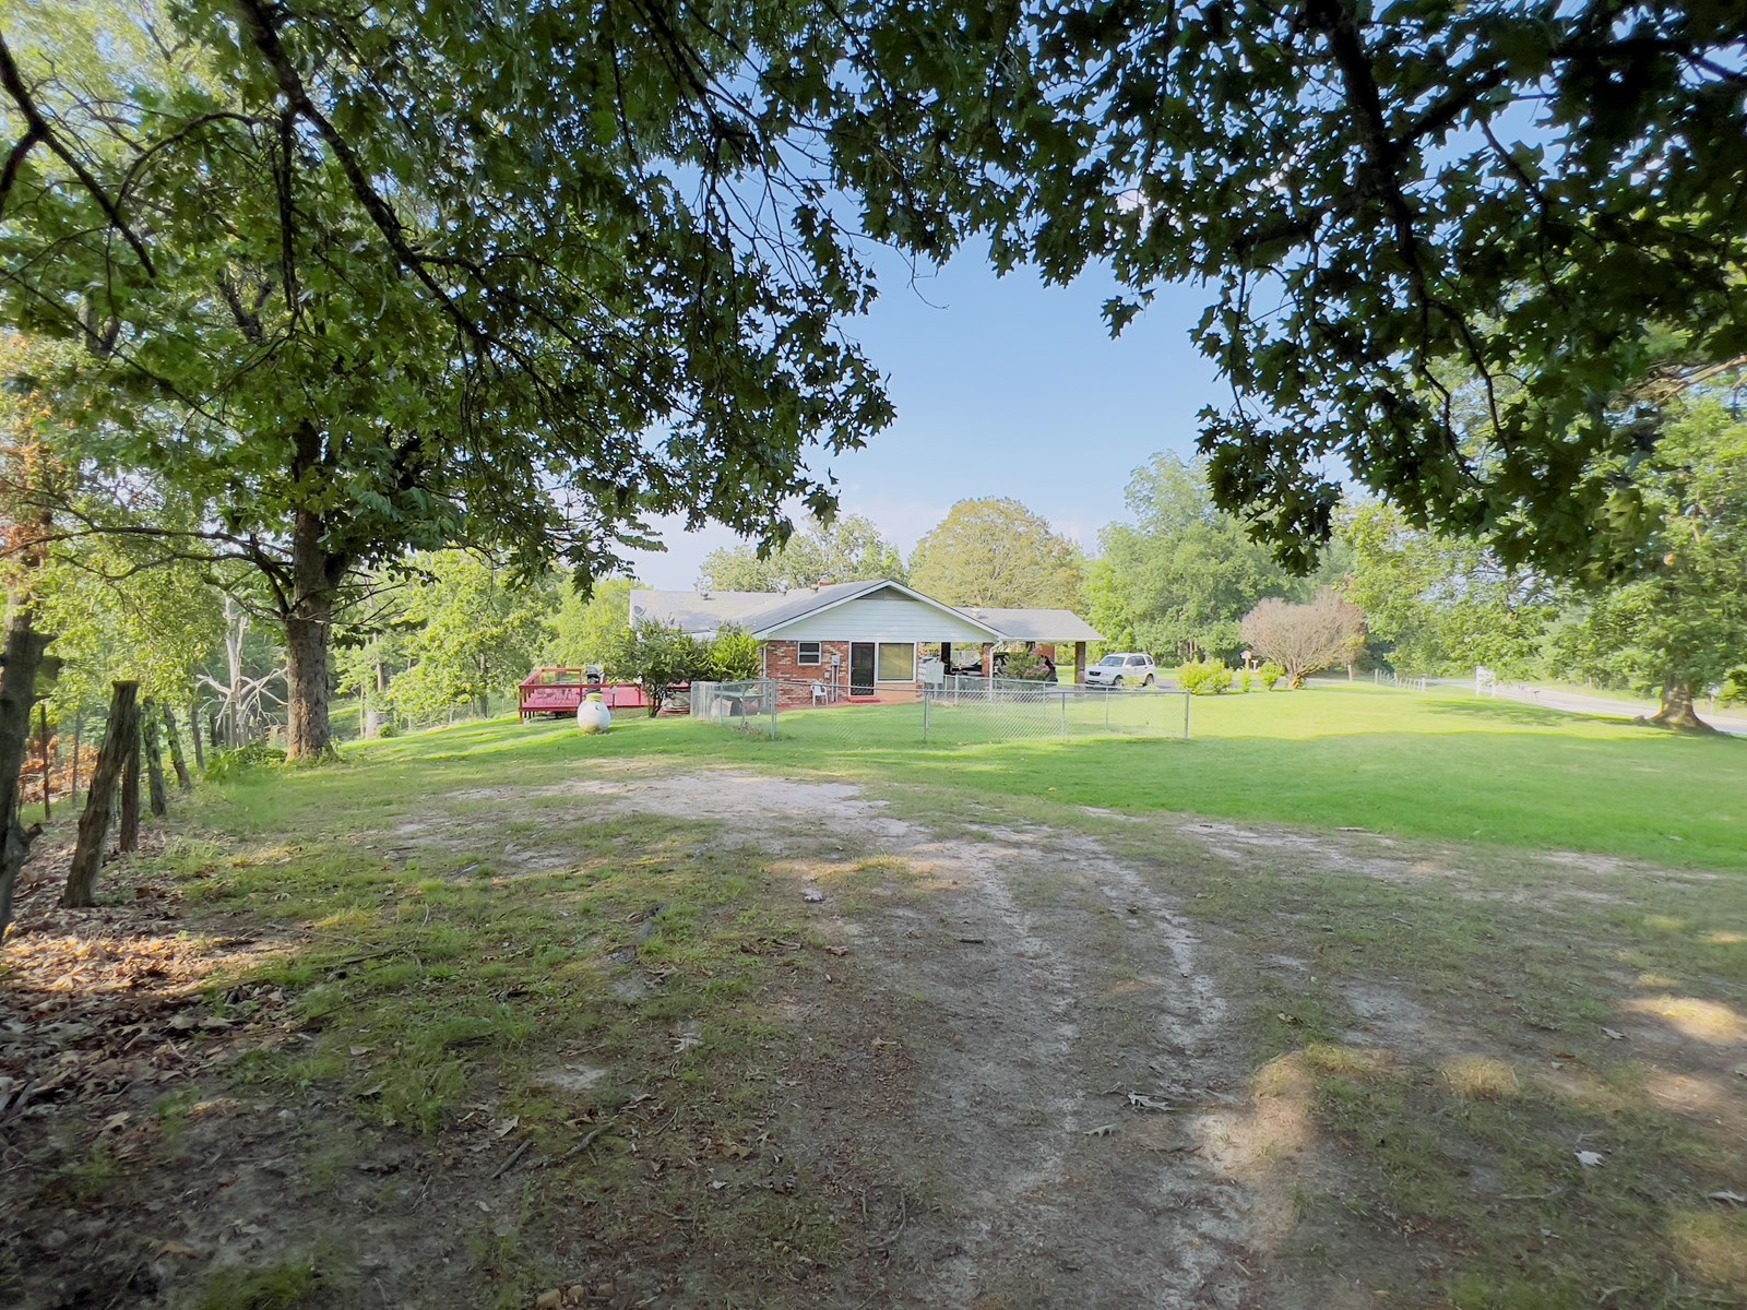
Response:
POLYGON ((166 557, 260 573, 293 758, 328 748, 360 571, 468 543, 587 580, 662 514, 779 541, 835 505, 805 456, 889 419, 840 334, 874 285, 839 211, 865 192, 924 253, 947 229, 837 77, 865 12, 24 9, 0 318, 87 348, 86 470, 199 507, 166 557))

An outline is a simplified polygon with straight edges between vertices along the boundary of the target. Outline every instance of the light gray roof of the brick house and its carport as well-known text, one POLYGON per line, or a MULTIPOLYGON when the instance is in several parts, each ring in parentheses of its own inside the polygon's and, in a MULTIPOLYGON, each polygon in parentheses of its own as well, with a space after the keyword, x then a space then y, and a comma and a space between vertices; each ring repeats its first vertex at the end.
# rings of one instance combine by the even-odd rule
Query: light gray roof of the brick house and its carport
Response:
MULTIPOLYGON (((631 592, 631 618, 653 618, 662 624, 673 624, 694 636, 713 636, 725 624, 760 634, 784 624, 793 624, 814 610, 844 604, 861 596, 886 590, 887 587, 929 604, 940 604, 942 610, 952 610, 952 606, 942 604, 901 583, 887 578, 870 578, 865 582, 828 582, 818 589, 798 587, 791 592, 659 592, 636 589, 631 592)), ((978 627, 989 629, 992 638, 1006 641, 1104 639, 1101 632, 1094 631, 1071 610, 959 608, 954 613, 963 615, 978 627)))

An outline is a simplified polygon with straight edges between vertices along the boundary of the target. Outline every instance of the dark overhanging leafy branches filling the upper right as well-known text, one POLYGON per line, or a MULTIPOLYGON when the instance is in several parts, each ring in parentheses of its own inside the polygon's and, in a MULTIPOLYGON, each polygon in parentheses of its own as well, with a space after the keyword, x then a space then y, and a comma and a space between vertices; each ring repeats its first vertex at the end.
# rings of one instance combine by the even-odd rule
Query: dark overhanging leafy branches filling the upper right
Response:
POLYGON ((1282 559, 1329 538, 1345 470, 1508 566, 1611 575, 1658 533, 1635 461, 1747 355, 1747 7, 924 9, 952 40, 903 47, 891 152, 961 162, 998 265, 1108 264, 1113 330, 1211 288, 1193 339, 1232 400, 1198 445, 1282 559))

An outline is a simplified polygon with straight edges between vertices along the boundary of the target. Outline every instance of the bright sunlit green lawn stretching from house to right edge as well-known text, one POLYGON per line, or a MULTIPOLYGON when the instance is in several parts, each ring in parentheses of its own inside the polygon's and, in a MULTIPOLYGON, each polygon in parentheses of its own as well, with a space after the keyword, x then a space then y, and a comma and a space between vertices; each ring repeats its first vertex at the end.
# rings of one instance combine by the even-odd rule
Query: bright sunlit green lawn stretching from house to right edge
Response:
MULTIPOLYGON (((921 742, 915 706, 784 716, 779 741, 688 720, 486 723, 362 748, 372 760, 674 756, 952 786, 984 795, 1193 812, 1307 828, 1579 851, 1747 872, 1747 741, 1677 737, 1462 693, 1310 688, 1191 702, 1162 697, 1158 735, 921 742)), ((409 772, 409 779, 412 774, 409 772)))

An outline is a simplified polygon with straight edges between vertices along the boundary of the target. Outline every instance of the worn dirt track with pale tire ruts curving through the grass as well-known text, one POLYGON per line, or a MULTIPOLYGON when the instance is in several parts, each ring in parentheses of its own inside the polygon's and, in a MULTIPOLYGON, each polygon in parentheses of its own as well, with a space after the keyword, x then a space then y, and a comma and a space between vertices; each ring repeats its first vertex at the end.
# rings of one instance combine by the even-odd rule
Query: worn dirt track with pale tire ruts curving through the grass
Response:
POLYGON ((722 840, 816 868, 826 889, 875 856, 919 875, 853 915, 819 905, 868 994, 802 1022, 832 1025, 846 1004, 901 1015, 914 1071, 889 1114, 797 1106, 811 1153, 860 1139, 910 1198, 879 1261, 842 1272, 842 1305, 1268 1303, 1254 1238, 1275 1244, 1277 1196, 1233 1177, 1249 1067, 1209 948, 1139 872, 1041 826, 945 840, 849 784, 711 772, 570 789, 720 821, 722 840))

